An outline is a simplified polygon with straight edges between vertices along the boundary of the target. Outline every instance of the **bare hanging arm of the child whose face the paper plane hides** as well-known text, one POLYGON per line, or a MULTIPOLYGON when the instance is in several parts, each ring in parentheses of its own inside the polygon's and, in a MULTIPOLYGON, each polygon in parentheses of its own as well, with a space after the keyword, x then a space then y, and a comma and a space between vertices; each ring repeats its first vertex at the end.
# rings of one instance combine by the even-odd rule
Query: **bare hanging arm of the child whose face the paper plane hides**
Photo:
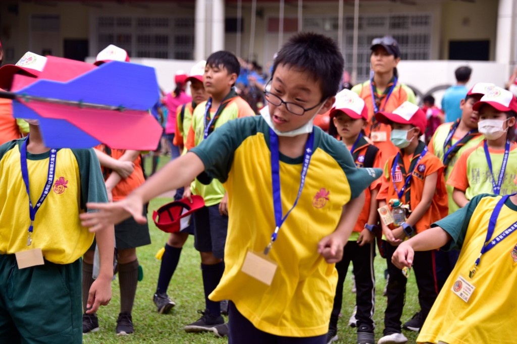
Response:
POLYGON ((95 233, 97 246, 99 247, 100 271, 99 276, 94 281, 88 292, 86 312, 94 313, 99 306, 105 306, 111 300, 111 280, 113 278, 113 248, 115 247, 114 227, 107 226, 95 233), (91 308, 90 308, 91 307, 91 308))

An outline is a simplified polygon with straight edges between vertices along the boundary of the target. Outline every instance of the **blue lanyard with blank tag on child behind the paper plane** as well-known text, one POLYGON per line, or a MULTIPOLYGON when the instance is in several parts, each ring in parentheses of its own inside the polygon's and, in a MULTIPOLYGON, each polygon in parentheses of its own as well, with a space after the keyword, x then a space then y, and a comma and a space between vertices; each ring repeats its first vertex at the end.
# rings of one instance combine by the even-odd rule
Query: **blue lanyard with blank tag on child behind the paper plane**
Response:
MULTIPOLYGON (((31 193, 29 192, 29 174, 27 169, 27 142, 29 137, 23 141, 21 147, 20 147, 20 165, 21 165, 21 171, 22 171, 22 179, 25 183, 25 190, 27 192, 27 197, 29 199, 29 217, 31 218, 31 225, 29 225, 29 228, 27 230, 27 246, 32 245, 32 234, 34 231, 34 220, 36 218, 36 213, 38 212, 38 209, 43 204, 43 201, 47 198, 52 183, 54 182, 54 172, 56 168, 56 155, 57 151, 56 149, 52 148, 49 152, 49 169, 48 169, 48 177, 47 177, 47 183, 45 183, 45 187, 43 189, 43 192, 41 193, 41 196, 38 199, 38 202, 36 203, 36 206, 33 207, 32 201, 31 201, 31 193)), ((24 251, 16 252, 14 253, 16 256, 16 261, 18 263, 18 269, 24 269, 28 267, 33 267, 35 265, 43 265, 43 253, 41 252, 41 248, 29 248, 24 251)))

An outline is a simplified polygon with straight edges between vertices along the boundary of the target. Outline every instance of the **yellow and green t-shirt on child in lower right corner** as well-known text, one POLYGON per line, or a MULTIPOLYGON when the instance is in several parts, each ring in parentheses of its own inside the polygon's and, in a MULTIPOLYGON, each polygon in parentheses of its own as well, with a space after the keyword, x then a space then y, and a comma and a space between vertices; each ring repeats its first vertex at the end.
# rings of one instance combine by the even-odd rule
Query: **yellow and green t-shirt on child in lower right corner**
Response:
MULTIPOLYGON (((447 249, 461 248, 460 257, 425 320, 417 341, 478 344, 515 342, 517 309, 517 232, 509 234, 482 255, 476 273, 469 271, 486 239, 492 211, 501 196, 478 195, 463 208, 433 224, 450 234, 447 249), (462 276, 475 289, 468 302, 451 289, 462 276)), ((497 218, 491 239, 517 220, 517 205, 508 199, 497 218)))

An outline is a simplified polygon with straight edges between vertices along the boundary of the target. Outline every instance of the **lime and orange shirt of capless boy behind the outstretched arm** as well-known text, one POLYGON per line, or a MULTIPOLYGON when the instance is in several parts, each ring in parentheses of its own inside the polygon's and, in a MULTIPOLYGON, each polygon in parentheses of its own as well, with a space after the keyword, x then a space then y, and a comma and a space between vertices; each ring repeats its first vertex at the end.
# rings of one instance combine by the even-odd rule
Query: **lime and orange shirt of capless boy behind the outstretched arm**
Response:
MULTIPOLYGON (((224 123, 231 121, 236 118, 254 116, 250 105, 240 97, 233 97, 227 100, 228 103, 221 112, 219 119, 215 123, 214 132, 218 130, 224 123)), ((205 109, 206 101, 197 105, 192 114, 192 121, 190 122, 190 130, 187 136, 187 143, 185 147, 190 150, 203 142, 203 135, 205 130, 205 109)), ((212 106, 210 108, 210 118, 216 114, 216 108, 212 106)), ((210 135, 212 135, 211 133, 210 135)), ((206 181, 203 181, 206 182, 206 181)), ((205 200, 205 205, 214 206, 219 204, 224 197, 223 185, 217 179, 213 179, 209 184, 204 184, 198 178, 194 180, 190 189, 192 194, 200 195, 205 200)))

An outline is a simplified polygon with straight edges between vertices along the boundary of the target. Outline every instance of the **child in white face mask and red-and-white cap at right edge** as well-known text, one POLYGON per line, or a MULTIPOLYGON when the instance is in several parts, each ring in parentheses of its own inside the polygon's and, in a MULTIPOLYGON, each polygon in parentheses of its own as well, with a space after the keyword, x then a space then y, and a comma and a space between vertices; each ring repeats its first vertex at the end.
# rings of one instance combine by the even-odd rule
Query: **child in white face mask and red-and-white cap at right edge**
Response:
POLYGON ((484 140, 479 146, 465 151, 447 181, 454 187, 452 197, 460 207, 482 193, 508 195, 517 192, 513 183, 517 170, 515 96, 495 87, 474 104, 473 109, 479 112, 478 130, 484 140))

